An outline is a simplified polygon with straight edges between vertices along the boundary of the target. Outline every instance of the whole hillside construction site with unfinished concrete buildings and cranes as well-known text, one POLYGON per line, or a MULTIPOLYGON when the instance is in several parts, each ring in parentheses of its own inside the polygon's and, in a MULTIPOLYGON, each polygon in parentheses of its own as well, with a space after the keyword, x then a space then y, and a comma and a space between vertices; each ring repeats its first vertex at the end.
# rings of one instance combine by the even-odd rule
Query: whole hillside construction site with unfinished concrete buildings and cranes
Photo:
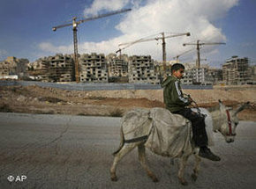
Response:
MULTIPOLYGON (((175 62, 167 61, 166 40, 177 37, 189 37, 191 33, 156 33, 149 37, 123 42, 118 45, 116 54, 79 54, 78 47, 78 25, 98 18, 131 11, 124 9, 113 11, 91 18, 72 18, 72 23, 56 25, 52 30, 56 32, 64 27, 72 26, 74 53, 72 55, 56 54, 41 57, 35 62, 26 59, 8 57, 0 62, 1 79, 32 79, 41 82, 54 83, 130 83, 130 84, 160 84, 162 79, 170 75, 171 65, 175 62), (122 55, 128 47, 138 43, 150 41, 162 42, 162 61, 155 61, 151 55, 122 55), (119 53, 119 55, 117 55, 119 53)), ((210 68, 201 64, 200 49, 204 46, 225 45, 223 42, 196 42, 184 43, 183 46, 192 46, 184 54, 196 50, 197 60, 184 63, 185 75, 183 84, 191 85, 213 85, 213 84, 255 84, 255 65, 248 63, 248 58, 233 56, 223 62, 222 69, 210 68)))

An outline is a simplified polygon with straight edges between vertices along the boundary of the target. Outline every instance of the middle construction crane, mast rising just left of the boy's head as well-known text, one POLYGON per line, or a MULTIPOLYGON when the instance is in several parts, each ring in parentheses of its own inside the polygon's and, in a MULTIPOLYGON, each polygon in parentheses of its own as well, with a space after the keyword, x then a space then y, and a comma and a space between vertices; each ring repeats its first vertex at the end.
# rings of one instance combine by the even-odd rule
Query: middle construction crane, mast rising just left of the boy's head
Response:
POLYGON ((190 33, 176 33, 176 34, 167 35, 167 36, 165 36, 164 33, 160 33, 160 34, 162 34, 161 37, 156 37, 156 38, 151 38, 151 39, 141 38, 139 40, 135 40, 135 41, 132 41, 132 42, 121 43, 121 44, 118 45, 119 49, 117 50, 116 53, 119 52, 120 55, 121 55, 121 51, 124 50, 124 48, 130 47, 135 43, 146 42, 146 41, 151 41, 151 40, 162 40, 162 67, 163 67, 163 72, 165 73, 165 71, 166 71, 166 43, 165 43, 165 39, 178 37, 178 36, 183 36, 183 35, 190 36, 190 33), (124 47, 121 48, 121 46, 124 46, 124 47))

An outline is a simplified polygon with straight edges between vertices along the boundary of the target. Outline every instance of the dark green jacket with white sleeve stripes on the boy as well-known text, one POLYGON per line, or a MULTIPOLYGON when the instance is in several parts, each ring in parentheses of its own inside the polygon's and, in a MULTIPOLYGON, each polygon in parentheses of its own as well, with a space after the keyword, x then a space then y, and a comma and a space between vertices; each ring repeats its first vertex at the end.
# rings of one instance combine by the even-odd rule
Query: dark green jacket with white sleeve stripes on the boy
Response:
POLYGON ((173 113, 190 105, 188 98, 184 98, 180 81, 174 76, 168 76, 161 84, 163 87, 163 100, 169 112, 173 113))

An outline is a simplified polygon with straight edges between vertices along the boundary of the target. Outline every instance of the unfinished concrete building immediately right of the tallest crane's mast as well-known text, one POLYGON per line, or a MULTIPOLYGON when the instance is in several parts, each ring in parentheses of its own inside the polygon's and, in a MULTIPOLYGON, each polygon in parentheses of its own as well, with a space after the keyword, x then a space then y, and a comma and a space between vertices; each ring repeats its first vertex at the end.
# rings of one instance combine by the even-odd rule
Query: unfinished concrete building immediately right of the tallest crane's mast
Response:
POLYGON ((79 57, 80 82, 108 83, 108 66, 105 55, 95 53, 79 57))

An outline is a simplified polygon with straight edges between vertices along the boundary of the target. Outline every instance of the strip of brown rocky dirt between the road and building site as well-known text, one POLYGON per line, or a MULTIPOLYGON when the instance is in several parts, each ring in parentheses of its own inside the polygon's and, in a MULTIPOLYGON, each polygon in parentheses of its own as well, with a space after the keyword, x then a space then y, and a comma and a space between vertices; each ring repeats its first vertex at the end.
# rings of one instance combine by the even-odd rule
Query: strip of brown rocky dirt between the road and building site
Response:
MULTIPOLYGON (((236 108, 250 100, 240 120, 256 121, 256 88, 188 91, 200 107, 225 105, 236 108), (236 95, 235 95, 236 94, 236 95)), ((122 116, 135 107, 164 107, 162 91, 64 91, 39 86, 4 86, 0 89, 0 112, 122 116)))

